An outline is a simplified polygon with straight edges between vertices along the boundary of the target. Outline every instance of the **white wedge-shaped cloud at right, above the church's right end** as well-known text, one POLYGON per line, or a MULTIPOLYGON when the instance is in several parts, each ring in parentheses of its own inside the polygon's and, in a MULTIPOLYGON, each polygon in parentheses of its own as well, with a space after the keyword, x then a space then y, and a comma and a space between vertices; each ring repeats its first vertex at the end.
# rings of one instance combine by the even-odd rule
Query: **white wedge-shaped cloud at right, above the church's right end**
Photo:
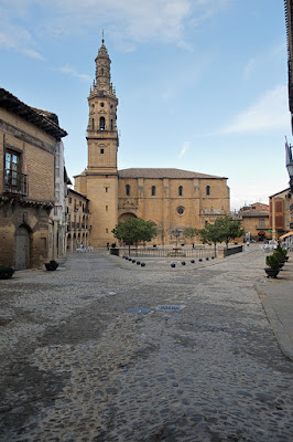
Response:
POLYGON ((287 110, 287 88, 279 85, 268 91, 247 110, 236 115, 230 124, 223 127, 220 134, 243 134, 258 130, 287 129, 290 113, 287 110))

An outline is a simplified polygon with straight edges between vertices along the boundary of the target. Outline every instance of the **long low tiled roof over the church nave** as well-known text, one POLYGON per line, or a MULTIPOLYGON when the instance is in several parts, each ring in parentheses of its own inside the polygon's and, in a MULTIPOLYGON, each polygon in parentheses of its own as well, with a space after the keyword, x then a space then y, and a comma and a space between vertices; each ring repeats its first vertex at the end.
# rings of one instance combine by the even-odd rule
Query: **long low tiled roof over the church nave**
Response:
POLYGON ((118 175, 119 178, 227 179, 225 177, 216 177, 215 175, 198 173, 182 169, 130 168, 130 169, 118 170, 118 175))

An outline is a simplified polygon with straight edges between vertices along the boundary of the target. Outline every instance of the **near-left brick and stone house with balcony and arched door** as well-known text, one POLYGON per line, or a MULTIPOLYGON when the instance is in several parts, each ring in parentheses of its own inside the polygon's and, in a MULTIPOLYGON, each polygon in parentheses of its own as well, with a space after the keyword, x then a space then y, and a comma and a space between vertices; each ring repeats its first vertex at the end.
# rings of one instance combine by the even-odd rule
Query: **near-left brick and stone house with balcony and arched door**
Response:
POLYGON ((54 256, 54 159, 66 135, 56 115, 0 90, 0 265, 39 267, 54 256))

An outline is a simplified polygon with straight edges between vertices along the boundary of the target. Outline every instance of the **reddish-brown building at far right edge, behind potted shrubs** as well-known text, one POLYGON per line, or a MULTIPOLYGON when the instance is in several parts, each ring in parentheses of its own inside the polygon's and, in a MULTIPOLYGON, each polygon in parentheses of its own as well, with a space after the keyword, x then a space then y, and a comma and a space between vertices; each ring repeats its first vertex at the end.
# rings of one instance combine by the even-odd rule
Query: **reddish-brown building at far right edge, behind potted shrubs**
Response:
POLYGON ((270 198, 270 229, 272 239, 279 240, 293 230, 293 199, 291 189, 281 190, 270 198))

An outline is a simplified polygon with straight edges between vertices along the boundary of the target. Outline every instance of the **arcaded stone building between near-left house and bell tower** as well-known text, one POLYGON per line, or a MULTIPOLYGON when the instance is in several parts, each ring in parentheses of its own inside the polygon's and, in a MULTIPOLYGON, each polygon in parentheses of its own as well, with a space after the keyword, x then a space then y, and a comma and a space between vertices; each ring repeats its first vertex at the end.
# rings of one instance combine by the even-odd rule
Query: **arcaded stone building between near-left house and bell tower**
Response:
POLYGON ((74 252, 77 248, 89 245, 90 213, 88 199, 68 189, 68 214, 67 214, 67 250, 74 252))

